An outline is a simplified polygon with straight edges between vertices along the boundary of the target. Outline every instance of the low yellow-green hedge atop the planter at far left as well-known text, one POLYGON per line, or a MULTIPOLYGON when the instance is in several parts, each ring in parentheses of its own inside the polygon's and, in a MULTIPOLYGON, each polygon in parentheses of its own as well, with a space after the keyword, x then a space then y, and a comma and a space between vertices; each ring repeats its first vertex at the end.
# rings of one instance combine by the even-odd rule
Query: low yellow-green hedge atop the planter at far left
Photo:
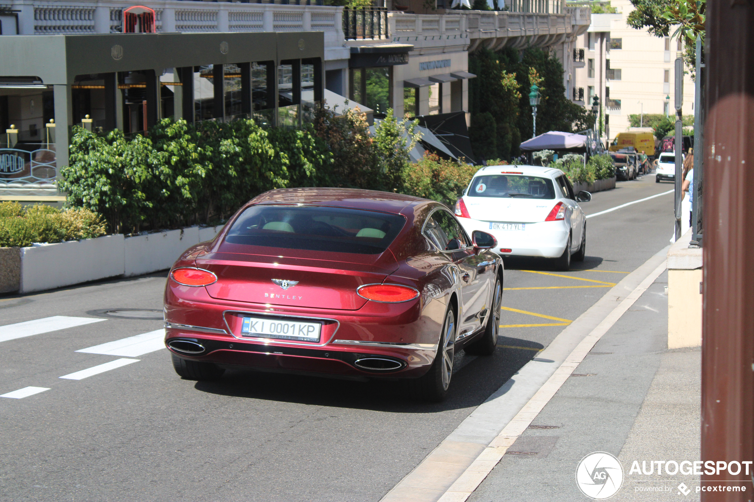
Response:
POLYGON ((87 208, 0 202, 0 247, 27 247, 33 242, 63 242, 105 235, 105 222, 87 208))

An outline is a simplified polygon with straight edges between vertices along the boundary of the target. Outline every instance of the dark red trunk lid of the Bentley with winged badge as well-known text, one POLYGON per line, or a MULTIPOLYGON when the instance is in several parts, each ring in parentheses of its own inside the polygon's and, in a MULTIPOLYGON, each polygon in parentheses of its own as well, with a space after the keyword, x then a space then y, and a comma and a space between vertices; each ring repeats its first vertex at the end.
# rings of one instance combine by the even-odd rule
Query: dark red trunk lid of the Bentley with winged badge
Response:
POLYGON ((382 283, 398 268, 390 251, 348 254, 345 260, 345 253, 293 254, 298 256, 218 252, 205 254, 196 264, 217 275, 217 282, 206 288, 218 300, 342 310, 360 309, 367 300, 356 294, 357 288, 382 283))

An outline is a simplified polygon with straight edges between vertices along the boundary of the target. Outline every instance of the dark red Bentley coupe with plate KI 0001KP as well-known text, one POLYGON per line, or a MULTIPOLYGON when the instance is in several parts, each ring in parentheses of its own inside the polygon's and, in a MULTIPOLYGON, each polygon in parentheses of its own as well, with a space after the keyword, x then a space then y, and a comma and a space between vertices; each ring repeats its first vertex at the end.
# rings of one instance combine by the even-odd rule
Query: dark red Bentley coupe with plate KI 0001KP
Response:
POLYGON ((395 193, 271 190, 170 269, 165 344, 185 379, 226 367, 406 379, 445 397, 453 356, 492 354, 503 284, 495 237, 395 193))

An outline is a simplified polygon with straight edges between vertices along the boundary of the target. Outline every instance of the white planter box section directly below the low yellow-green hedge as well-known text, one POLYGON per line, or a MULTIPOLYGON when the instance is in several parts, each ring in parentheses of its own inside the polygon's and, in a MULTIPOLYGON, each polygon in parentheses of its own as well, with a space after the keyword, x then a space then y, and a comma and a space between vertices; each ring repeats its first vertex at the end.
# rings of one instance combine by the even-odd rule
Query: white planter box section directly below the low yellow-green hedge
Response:
POLYGON ((21 248, 19 293, 123 275, 123 236, 21 248))

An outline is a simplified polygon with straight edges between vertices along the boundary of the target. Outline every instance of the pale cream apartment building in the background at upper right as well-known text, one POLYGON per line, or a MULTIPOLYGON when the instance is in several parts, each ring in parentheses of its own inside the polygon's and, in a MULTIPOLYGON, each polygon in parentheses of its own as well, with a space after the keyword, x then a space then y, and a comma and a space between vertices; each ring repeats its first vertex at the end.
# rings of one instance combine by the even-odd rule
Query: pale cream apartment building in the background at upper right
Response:
MULTIPOLYGON (((574 69, 573 96, 602 103, 602 138, 615 138, 630 127, 630 115, 675 114, 674 71, 677 39, 658 38, 626 24, 633 5, 614 0, 616 14, 592 14, 592 22, 576 41, 584 61, 574 69)), ((577 101, 578 102, 578 101, 577 101)), ((694 82, 684 77, 683 113, 694 113, 694 82)))

